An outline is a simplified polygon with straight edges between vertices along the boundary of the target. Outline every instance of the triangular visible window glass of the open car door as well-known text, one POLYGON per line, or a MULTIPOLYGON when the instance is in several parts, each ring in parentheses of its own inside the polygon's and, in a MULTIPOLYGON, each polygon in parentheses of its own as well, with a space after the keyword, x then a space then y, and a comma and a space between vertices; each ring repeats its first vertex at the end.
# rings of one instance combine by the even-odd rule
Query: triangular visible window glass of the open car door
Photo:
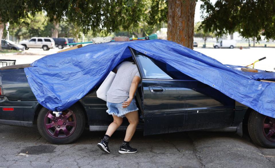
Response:
POLYGON ((135 50, 134 52, 143 78, 195 80, 165 62, 152 59, 135 50))

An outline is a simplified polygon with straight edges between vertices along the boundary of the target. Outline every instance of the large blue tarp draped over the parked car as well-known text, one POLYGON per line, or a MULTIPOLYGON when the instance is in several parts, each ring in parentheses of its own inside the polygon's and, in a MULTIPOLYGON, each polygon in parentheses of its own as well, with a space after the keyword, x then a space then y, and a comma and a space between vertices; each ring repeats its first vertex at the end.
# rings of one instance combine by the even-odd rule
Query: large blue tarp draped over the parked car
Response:
MULTIPOLYGON (((30 87, 38 102, 53 111, 62 111, 101 83, 123 59, 131 57, 128 47, 170 64, 236 101, 275 118, 274 72, 250 73, 239 66, 223 65, 200 52, 167 40, 137 40, 90 44, 51 54, 25 68, 30 87)), ((241 56, 241 55, 240 55, 241 56)))

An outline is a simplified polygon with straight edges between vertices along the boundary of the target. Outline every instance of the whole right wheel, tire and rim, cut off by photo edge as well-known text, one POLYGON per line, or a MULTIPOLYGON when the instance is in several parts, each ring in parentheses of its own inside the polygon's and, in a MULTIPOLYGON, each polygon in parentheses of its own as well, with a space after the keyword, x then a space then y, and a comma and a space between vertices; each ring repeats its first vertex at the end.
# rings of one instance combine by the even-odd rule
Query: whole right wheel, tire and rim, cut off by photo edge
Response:
POLYGON ((275 148, 275 119, 253 110, 248 118, 248 132, 255 144, 275 148), (269 128, 267 128, 269 127, 269 128), (271 135, 271 136, 270 136, 271 135))

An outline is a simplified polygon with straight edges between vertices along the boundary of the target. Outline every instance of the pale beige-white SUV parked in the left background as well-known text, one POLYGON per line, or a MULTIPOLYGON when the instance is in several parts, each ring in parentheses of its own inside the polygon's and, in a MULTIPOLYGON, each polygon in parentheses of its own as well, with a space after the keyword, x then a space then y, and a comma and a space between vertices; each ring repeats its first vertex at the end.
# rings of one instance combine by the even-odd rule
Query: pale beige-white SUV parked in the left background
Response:
POLYGON ((50 48, 54 48, 54 40, 50 37, 33 37, 29 41, 21 41, 19 42, 22 46, 25 46, 25 49, 29 48, 43 48, 43 50, 50 50, 50 48))

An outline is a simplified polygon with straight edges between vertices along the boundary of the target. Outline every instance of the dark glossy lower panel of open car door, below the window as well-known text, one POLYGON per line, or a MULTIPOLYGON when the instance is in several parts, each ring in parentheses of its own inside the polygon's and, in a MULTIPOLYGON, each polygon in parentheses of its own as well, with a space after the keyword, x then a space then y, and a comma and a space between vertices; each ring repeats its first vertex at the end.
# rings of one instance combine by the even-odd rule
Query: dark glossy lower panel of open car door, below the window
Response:
POLYGON ((148 79, 142 83, 145 135, 227 127, 233 123, 235 101, 199 81, 148 79), (154 87, 163 91, 155 92, 154 87), (211 95, 203 93, 207 89, 211 95))

